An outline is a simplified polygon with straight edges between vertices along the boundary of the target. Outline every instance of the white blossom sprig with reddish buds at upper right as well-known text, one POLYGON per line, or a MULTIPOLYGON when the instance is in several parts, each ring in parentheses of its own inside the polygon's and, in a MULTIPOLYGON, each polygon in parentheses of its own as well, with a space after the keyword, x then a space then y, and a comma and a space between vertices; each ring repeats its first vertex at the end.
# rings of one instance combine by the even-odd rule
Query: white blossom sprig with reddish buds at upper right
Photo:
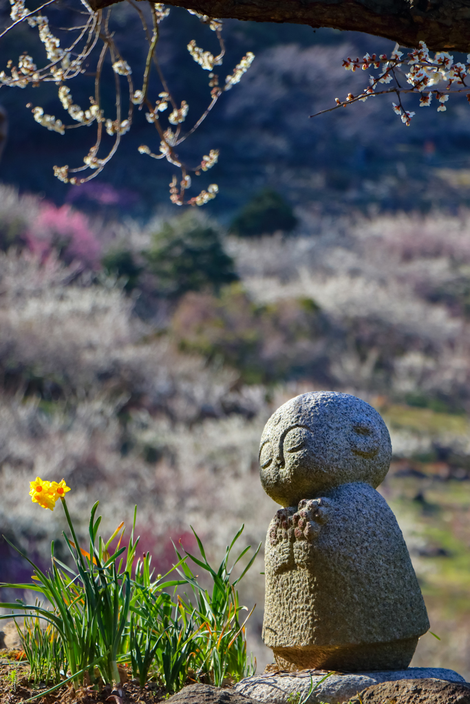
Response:
MULTIPOLYGON (((392 108, 397 115, 400 115, 402 122, 409 127, 415 113, 405 110, 402 105, 401 94, 411 93, 418 95, 420 108, 430 106, 431 99, 434 96, 438 102, 438 113, 443 113, 447 109, 444 103, 448 101, 450 94, 466 94, 467 99, 470 101, 470 54, 467 54, 466 63, 460 61, 454 63, 454 57, 447 51, 436 51, 434 57, 432 57, 425 42, 419 42, 418 49, 413 49, 407 55, 407 58, 403 58, 403 52, 399 49, 399 45, 396 44, 389 57, 386 54, 380 54, 379 56, 376 56, 376 54, 372 56, 365 54, 362 59, 352 59, 350 57, 345 59, 342 65, 346 70, 356 71, 361 68, 365 71, 375 69, 380 70, 380 73, 378 76, 370 75, 369 86, 359 95, 354 96, 349 93, 345 101, 336 98, 336 106, 341 107, 356 101, 366 101, 371 96, 395 93, 398 97, 398 103, 392 103, 392 108), (409 68, 404 69, 405 66, 409 68), (402 84, 397 80, 397 75, 404 76, 411 88, 402 87, 402 84), (469 82, 466 82, 466 80, 469 82), (376 90, 379 84, 390 84, 392 81, 395 81, 395 84, 390 88, 376 90), (433 86, 435 87, 433 88, 433 86)), ((330 108, 330 110, 335 109, 330 108)), ((321 113, 329 112, 330 110, 321 111, 321 113)), ((321 113, 316 114, 319 115, 321 113)), ((314 117, 314 115, 311 115, 311 117, 314 117)))

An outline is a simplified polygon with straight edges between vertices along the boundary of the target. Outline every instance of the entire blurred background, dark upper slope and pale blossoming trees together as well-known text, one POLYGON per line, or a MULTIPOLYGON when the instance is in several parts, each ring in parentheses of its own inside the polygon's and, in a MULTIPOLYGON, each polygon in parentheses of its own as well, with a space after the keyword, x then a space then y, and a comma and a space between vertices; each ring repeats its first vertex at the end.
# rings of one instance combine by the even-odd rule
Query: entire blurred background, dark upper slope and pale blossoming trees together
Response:
MULTIPOLYGON (((65 25, 69 11, 57 12, 65 25)), ((123 56, 138 63, 142 30, 125 4, 113 13, 123 56)), ((72 486, 83 536, 90 501, 103 500, 110 524, 137 503, 142 549, 161 572, 170 537, 194 548, 189 524, 215 558, 242 522, 247 544, 264 541, 276 510, 257 476, 264 423, 296 394, 347 391, 392 435, 381 491, 441 638, 423 636, 414 665, 469 679, 469 106, 419 109, 409 128, 388 99, 309 120, 364 85, 342 58, 390 42, 225 25, 228 63, 246 51, 256 60, 186 143, 194 163, 221 150, 210 174, 221 194, 204 211, 170 210, 171 168, 146 168, 137 153, 149 142, 142 114, 110 168, 73 188, 51 168, 65 154, 80 163, 87 132, 52 134, 24 107, 60 116, 56 88, 0 94, 11 122, 0 162, 1 533, 46 564, 61 517, 25 508, 18 486, 47 474, 72 486)), ((185 44, 206 46, 206 28, 173 8, 161 28, 163 68, 196 113, 202 77, 185 44)), ((35 49, 32 37, 20 30, 7 58, 35 49)), ((78 84, 74 98, 88 90, 78 84)), ((249 649, 262 669, 258 566, 242 599, 258 604, 249 649)), ((0 579, 29 575, 0 543, 0 579)))

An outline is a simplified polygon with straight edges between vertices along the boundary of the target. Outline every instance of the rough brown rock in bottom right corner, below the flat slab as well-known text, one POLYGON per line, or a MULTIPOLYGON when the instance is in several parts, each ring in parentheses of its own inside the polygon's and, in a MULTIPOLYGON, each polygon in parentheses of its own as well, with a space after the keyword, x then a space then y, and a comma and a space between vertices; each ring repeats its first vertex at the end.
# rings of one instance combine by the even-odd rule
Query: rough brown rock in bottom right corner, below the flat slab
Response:
POLYGON ((351 704, 470 704, 470 684, 408 679, 376 684, 359 696, 351 704))

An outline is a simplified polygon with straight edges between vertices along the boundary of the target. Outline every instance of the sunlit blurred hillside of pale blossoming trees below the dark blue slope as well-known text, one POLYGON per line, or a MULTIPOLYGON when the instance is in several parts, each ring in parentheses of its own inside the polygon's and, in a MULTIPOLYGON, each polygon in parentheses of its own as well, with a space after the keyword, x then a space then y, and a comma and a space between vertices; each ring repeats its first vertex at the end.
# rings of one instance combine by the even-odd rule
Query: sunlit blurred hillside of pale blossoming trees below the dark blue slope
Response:
MULTIPOLYGON (((82 536, 95 500, 106 529, 136 503, 161 570, 190 524, 215 557, 242 522, 264 543, 264 423, 304 391, 347 391, 392 436, 381 491, 441 639, 414 664, 468 678, 470 213, 297 211, 295 237, 235 237, 200 212, 103 225, 0 187, 1 533, 47 564, 65 525, 30 503, 39 474, 72 487, 82 536)), ((0 551, 1 581, 29 577, 0 551)), ((242 591, 262 667, 260 572, 242 591)))

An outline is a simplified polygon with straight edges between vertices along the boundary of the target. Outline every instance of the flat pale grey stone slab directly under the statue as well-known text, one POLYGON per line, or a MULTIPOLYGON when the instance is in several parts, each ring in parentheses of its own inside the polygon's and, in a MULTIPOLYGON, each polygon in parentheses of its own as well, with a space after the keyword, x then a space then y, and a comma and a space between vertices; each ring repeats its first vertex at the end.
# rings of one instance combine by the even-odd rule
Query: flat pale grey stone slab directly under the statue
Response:
POLYGON ((272 704, 289 704, 290 695, 300 693, 304 698, 309 693, 310 677, 314 683, 308 704, 341 704, 349 702, 366 687, 381 682, 400 679, 442 679, 448 682, 464 682, 464 678, 443 667, 408 667, 407 670, 387 670, 384 672, 354 672, 352 674, 330 674, 319 670, 302 672, 274 672, 246 677, 235 684, 235 690, 249 698, 272 704))

